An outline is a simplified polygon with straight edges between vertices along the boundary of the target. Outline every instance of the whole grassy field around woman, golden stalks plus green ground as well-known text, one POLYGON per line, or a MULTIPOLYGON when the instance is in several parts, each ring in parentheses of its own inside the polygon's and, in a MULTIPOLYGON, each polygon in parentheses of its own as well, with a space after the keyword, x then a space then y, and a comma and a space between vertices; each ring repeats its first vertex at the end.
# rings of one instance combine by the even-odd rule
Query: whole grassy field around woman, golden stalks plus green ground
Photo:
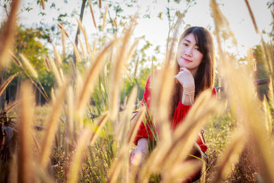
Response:
MULTIPOLYGON (((245 2, 249 7, 248 1, 245 2)), ((12 5, 14 8, 16 3, 12 5)), ((10 58, 16 62, 27 80, 20 85, 18 99, 6 104, 1 112, 0 181, 180 182, 203 167, 198 182, 274 182, 274 47, 264 42, 249 9, 262 38, 262 62, 269 79, 267 96, 259 99, 253 82, 256 79, 253 54, 247 55, 245 66, 236 67, 229 62, 220 37, 229 25, 216 1, 212 0, 210 7, 215 44, 219 48, 216 73, 220 81, 225 80, 225 90, 219 91, 217 99, 211 97, 211 90, 201 93, 184 123, 172 132, 169 109, 165 107, 171 98, 169 81, 175 75, 176 38, 171 38, 162 70, 153 79, 151 99, 153 120, 165 133, 159 134, 161 140, 155 149, 142 164, 136 162, 135 167, 129 166, 129 154, 136 148, 134 137, 146 110, 138 99, 144 88, 136 84, 136 75, 127 71, 138 44, 138 40, 131 38, 137 16, 132 17, 121 35, 113 36, 99 48, 91 46, 84 26, 78 21, 84 37, 82 50, 73 41, 69 42, 76 62, 64 63, 55 46, 54 54, 45 59, 47 70, 55 78, 49 97, 39 80, 40 73, 28 58, 10 51, 10 34, 15 26, 15 15, 11 13, 5 25, 8 30, 0 37, 3 40, 0 61, 10 58), (125 80, 134 87, 121 101, 125 80), (45 105, 36 105, 34 88, 45 97, 45 105), (194 139, 201 129, 208 145, 209 163, 201 160, 182 164, 192 149, 193 142, 188 139, 194 139)), ((102 17, 103 27, 107 8, 102 17)), ((174 27, 182 18, 177 17, 174 27)), ((67 34, 62 25, 58 26, 63 36, 67 34)), ((153 72, 153 66, 149 71, 153 72)), ((0 95, 17 75, 3 82, 0 95)))

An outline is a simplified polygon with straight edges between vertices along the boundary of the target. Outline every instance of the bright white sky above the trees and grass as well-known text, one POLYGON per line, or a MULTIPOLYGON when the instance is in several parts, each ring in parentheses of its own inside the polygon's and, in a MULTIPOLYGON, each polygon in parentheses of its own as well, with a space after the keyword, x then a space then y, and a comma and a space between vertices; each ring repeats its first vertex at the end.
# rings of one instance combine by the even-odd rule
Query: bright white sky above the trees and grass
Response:
MULTIPOLYGON (((69 14, 71 14, 73 10, 80 10, 81 1, 67 1, 69 3, 66 4, 63 0, 48 0, 45 3, 46 9, 42 10, 42 8, 36 4, 36 0, 23 0, 21 1, 21 5, 30 6, 33 10, 19 14, 19 21, 28 26, 32 26, 34 23, 40 23, 40 21, 52 25, 56 23, 53 21, 53 17, 56 18, 60 12, 69 12, 69 14), (55 3, 56 7, 60 8, 60 10, 57 11, 54 8, 49 8, 52 3, 55 3), (45 12, 46 16, 42 16, 39 14, 40 12, 45 12)), ((272 17, 270 10, 268 10, 266 6, 267 1, 269 0, 249 0, 251 10, 253 10, 260 32, 262 32, 262 30, 269 32, 271 29, 269 24, 272 21, 272 17)), ((167 0, 138 0, 132 8, 128 8, 126 2, 127 1, 125 0, 103 1, 103 7, 101 10, 99 10, 98 5, 94 5, 93 9, 95 17, 97 18, 97 24, 101 23, 99 21, 99 12, 104 12, 104 7, 107 3, 121 5, 124 10, 124 15, 133 15, 136 12, 139 12, 141 15, 149 14, 149 18, 140 16, 140 19, 138 19, 138 25, 136 26, 134 37, 145 35, 146 40, 149 40, 149 42, 153 44, 153 47, 160 45, 161 50, 164 51, 166 38, 169 32, 166 8, 170 8, 171 14, 177 10, 182 12, 186 9, 186 0, 181 0, 179 4, 174 3, 172 0, 169 4, 167 3, 167 0), (163 12, 162 19, 158 18, 159 12, 163 12)), ((188 12, 184 17, 185 24, 181 26, 179 32, 184 31, 186 24, 207 27, 210 32, 214 31, 214 22, 211 17, 209 5, 210 0, 196 0, 196 2, 195 5, 190 6, 188 9, 188 12)), ((253 47, 253 45, 257 45, 260 42, 260 37, 254 30, 245 1, 219 0, 217 2, 220 4, 219 7, 229 21, 229 25, 238 41, 238 47, 234 49, 234 51, 240 56, 244 56, 249 47, 253 47)), ((1 11, 2 10, 3 9, 1 9, 1 11)), ((110 12, 110 16, 113 17, 114 12, 110 12)), ((4 17, 5 13, 3 11, 0 12, 0 19, 4 19, 4 17)), ((77 24, 75 19, 70 18, 69 21, 75 25, 77 24)), ((119 21, 119 19, 117 21, 119 21)), ((86 8, 85 10, 83 25, 86 28, 86 32, 88 32, 88 36, 91 37, 92 33, 97 32, 93 27, 89 8, 86 8)), ((71 35, 75 35, 73 32, 76 32, 76 26, 71 27, 71 35)), ((264 39, 267 40, 267 37, 264 36, 264 39)), ((90 38, 90 40, 92 40, 92 38, 90 38)), ((153 49, 151 50, 151 54, 153 54, 153 49)))

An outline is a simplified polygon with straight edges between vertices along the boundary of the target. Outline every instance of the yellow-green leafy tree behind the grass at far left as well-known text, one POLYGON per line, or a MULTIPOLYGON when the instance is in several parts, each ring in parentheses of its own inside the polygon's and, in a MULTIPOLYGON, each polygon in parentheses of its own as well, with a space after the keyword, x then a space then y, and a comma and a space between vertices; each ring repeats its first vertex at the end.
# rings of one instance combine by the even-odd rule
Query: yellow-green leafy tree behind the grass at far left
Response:
MULTIPOLYGON (((23 54, 29 60, 32 66, 34 66, 34 69, 39 73, 38 81, 40 81, 42 86, 45 88, 47 95, 49 95, 51 88, 54 85, 54 77, 53 73, 47 71, 45 66, 44 59, 45 56, 49 54, 49 49, 45 47, 46 44, 47 36, 45 36, 40 29, 27 28, 23 25, 18 27, 14 55, 19 58, 19 54, 23 54)), ((18 81, 25 80, 27 78, 25 72, 17 64, 15 64, 15 62, 12 62, 10 67, 7 69, 6 77, 9 77, 17 72, 19 75, 14 78, 9 86, 10 88, 7 89, 8 100, 16 97, 18 81)))

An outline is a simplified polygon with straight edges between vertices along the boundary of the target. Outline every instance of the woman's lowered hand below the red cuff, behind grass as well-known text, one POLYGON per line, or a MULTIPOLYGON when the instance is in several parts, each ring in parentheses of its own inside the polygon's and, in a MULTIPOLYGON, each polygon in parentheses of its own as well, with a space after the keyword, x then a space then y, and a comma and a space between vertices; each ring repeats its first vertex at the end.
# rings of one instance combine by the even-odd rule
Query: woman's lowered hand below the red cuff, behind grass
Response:
POLYGON ((140 138, 138 140, 137 148, 130 154, 130 165, 138 166, 138 164, 144 160, 147 154, 149 154, 149 140, 148 138, 140 138))

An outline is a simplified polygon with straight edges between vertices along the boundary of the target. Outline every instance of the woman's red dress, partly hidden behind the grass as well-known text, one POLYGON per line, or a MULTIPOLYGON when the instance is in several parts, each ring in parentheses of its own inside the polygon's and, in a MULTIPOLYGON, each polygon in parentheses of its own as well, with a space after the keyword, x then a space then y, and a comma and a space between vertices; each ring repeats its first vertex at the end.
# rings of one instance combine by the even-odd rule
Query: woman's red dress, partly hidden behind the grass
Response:
MULTIPOLYGON (((150 107, 150 100, 151 100, 150 81, 151 81, 151 76, 149 75, 149 77, 147 78, 147 84, 145 86, 144 97, 142 99, 142 105, 144 105, 146 103, 147 108, 150 107)), ((213 88, 213 90, 212 90, 212 95, 216 95, 216 89, 215 88, 213 88)), ((172 129, 173 130, 175 129, 175 127, 177 127, 177 125, 179 125, 179 123, 182 123, 182 121, 186 117, 186 114, 188 114, 188 110, 190 110, 191 107, 192 106, 184 105, 182 103, 182 101, 178 102, 178 105, 177 105, 177 108, 174 112, 174 117, 173 117, 173 123, 172 123, 172 129)), ((137 145, 137 141, 140 138, 143 138, 143 137, 148 137, 148 138, 150 138, 151 141, 153 141, 153 133, 151 132, 151 129, 152 129, 153 125, 151 123, 151 120, 149 119, 150 117, 149 117, 148 112, 147 112, 146 115, 147 115, 146 116, 147 117, 147 125, 145 125, 143 122, 140 123, 136 138, 134 139, 134 144, 135 145, 137 145)), ((206 144, 202 141, 201 136, 199 136, 197 138, 196 143, 201 148, 201 151, 205 152, 208 149, 206 144)))

